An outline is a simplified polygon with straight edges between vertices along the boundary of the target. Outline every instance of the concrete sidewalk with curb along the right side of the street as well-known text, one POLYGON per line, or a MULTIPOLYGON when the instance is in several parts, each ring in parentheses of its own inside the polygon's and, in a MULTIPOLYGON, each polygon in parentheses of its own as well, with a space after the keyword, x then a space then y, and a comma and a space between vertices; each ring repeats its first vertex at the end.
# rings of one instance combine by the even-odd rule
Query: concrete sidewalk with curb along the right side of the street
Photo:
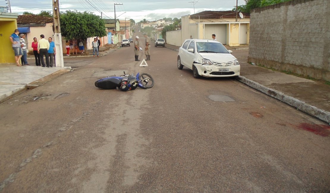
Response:
MULTIPOLYGON (((179 46, 165 47, 179 51, 179 46)), ((269 70, 248 63, 248 45, 228 46, 241 65, 238 81, 330 123, 330 86, 313 80, 269 70), (241 50, 241 51, 236 51, 241 50), (243 51, 244 50, 244 51, 243 51), (238 52, 243 52, 237 56, 238 52)))

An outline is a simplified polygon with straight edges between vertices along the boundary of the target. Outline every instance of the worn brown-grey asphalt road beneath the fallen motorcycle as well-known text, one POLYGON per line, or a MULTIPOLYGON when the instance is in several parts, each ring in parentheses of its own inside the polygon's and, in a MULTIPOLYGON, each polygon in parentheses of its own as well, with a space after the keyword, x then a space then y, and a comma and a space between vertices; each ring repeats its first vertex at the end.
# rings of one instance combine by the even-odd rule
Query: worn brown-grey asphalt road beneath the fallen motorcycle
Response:
POLYGON ((0 104, 0 192, 330 191, 325 123, 281 101, 232 78, 195 79, 162 47, 148 67, 133 44, 64 61, 75 70, 0 104), (94 86, 122 71, 155 85, 94 86))

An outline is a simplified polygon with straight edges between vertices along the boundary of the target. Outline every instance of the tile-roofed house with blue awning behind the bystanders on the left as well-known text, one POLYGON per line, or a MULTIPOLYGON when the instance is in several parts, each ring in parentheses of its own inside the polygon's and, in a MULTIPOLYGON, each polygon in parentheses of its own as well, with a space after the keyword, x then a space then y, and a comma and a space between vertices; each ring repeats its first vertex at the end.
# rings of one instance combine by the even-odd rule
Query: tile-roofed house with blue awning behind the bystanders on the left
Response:
POLYGON ((29 52, 33 51, 33 48, 31 47, 33 38, 37 38, 39 41, 41 34, 44 34, 45 39, 47 40, 49 37, 52 37, 54 40, 52 17, 44 17, 39 15, 18 15, 17 29, 20 33, 26 34, 25 43, 29 49, 29 52))

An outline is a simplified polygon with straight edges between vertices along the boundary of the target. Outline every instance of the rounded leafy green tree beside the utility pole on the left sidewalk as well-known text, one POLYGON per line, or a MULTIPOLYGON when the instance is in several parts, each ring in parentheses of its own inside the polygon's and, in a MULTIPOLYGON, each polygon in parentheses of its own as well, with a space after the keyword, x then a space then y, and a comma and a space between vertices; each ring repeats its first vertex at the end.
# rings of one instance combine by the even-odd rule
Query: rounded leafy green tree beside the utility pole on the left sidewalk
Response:
POLYGON ((60 15, 61 33, 66 40, 81 39, 87 52, 87 38, 107 35, 104 20, 91 12, 67 10, 60 15))

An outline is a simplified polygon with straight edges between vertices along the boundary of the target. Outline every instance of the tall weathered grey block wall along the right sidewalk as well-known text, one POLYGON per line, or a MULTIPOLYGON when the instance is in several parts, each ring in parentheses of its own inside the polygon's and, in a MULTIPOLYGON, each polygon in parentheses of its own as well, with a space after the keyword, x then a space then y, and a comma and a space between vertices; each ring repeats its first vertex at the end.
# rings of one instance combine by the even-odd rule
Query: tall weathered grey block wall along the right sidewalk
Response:
POLYGON ((330 81, 330 0, 252 10, 248 61, 330 81))

